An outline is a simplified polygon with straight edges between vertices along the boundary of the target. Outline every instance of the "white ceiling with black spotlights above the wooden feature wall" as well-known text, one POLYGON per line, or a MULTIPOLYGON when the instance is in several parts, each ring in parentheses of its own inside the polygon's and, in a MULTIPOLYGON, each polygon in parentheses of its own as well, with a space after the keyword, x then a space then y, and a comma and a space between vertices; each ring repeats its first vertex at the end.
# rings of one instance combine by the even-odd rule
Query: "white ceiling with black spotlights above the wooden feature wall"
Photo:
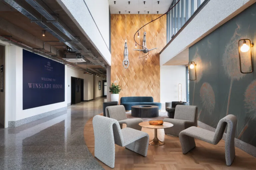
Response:
POLYGON ((108 0, 109 6, 110 6, 110 13, 111 14, 119 14, 119 11, 121 14, 125 14, 125 11, 130 11, 131 14, 138 14, 138 11, 140 11, 140 14, 146 13, 149 14, 157 14, 157 11, 159 11, 159 14, 164 14, 167 12, 169 7, 171 6, 173 0, 108 0), (116 1, 116 4, 114 4, 114 1, 116 1), (128 5, 128 1, 130 1, 130 5, 128 5), (144 5, 144 1, 145 5, 144 5), (159 4, 157 1, 160 1, 159 4))

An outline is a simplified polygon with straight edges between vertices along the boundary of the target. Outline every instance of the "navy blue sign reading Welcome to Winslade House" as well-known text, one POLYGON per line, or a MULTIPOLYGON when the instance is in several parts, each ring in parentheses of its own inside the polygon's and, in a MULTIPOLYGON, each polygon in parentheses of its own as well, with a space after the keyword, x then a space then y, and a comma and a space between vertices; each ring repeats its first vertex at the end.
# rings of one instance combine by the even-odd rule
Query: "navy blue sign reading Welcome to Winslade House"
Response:
POLYGON ((65 65, 23 49, 23 110, 65 101, 65 65))

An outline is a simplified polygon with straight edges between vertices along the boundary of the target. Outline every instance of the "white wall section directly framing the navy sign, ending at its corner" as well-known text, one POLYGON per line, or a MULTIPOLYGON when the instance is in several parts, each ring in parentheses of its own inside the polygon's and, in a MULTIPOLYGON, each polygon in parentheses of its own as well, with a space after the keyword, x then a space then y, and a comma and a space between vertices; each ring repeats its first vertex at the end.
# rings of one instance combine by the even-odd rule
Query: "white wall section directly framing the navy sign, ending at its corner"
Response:
MULTIPOLYGON (((6 51, 6 116, 8 121, 17 121, 41 113, 49 112, 67 106, 67 90, 65 101, 47 106, 23 110, 23 58, 22 48, 11 45, 6 51)), ((65 75, 67 67, 65 66, 65 75)), ((65 76, 65 84, 67 78, 65 76)), ((26 94, 24 94, 26 95, 26 94)), ((7 122, 8 125, 8 122, 7 122)))

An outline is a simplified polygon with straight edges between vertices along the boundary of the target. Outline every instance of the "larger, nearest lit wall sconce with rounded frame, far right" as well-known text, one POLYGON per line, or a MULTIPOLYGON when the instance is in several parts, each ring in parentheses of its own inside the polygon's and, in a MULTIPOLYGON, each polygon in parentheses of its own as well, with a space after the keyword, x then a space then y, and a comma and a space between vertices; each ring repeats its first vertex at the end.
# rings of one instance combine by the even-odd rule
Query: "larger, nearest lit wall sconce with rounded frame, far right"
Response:
POLYGON ((251 73, 253 71, 252 47, 253 43, 251 43, 249 39, 241 39, 238 41, 239 64, 241 73, 251 73))

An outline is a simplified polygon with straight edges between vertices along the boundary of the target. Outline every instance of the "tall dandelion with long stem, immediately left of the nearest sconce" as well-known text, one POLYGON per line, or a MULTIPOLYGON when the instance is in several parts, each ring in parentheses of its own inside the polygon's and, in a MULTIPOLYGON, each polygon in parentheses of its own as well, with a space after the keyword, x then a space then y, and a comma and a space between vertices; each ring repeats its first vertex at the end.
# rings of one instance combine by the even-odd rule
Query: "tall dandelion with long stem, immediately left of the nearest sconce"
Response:
POLYGON ((227 105, 227 113, 228 115, 228 109, 230 104, 230 95, 231 95, 231 89, 233 80, 240 80, 242 77, 245 76, 245 74, 242 74, 239 70, 239 56, 238 56, 238 41, 241 39, 240 35, 238 34, 238 31, 240 30, 240 26, 237 25, 237 29, 235 30, 232 38, 227 43, 225 47, 225 52, 222 57, 223 66, 225 69, 225 74, 228 75, 228 77, 231 79, 230 81, 230 87, 229 87, 229 95, 228 95, 228 105, 227 105))

